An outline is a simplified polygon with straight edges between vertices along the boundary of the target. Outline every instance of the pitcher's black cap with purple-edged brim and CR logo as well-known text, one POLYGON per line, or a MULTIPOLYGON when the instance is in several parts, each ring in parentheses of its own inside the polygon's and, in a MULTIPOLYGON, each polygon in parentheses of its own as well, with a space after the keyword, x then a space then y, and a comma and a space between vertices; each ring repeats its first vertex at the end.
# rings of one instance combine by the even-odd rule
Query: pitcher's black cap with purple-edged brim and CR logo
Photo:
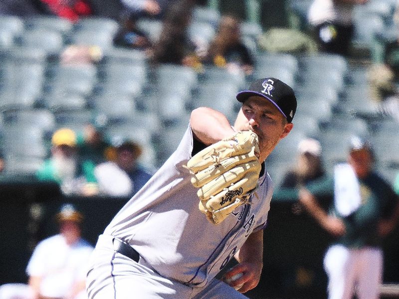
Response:
POLYGON ((247 90, 240 91, 236 98, 244 102, 250 96, 260 96, 269 100, 292 123, 296 112, 294 91, 284 82, 276 78, 264 78, 254 81, 247 90))

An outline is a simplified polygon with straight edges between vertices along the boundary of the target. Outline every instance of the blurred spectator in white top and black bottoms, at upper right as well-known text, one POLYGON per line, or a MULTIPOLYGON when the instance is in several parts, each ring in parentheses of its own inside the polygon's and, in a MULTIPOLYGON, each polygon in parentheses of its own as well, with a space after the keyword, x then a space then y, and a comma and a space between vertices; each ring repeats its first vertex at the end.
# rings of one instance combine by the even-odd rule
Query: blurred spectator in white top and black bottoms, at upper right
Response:
POLYGON ((320 50, 348 55, 354 33, 353 8, 368 0, 314 0, 308 11, 320 50))

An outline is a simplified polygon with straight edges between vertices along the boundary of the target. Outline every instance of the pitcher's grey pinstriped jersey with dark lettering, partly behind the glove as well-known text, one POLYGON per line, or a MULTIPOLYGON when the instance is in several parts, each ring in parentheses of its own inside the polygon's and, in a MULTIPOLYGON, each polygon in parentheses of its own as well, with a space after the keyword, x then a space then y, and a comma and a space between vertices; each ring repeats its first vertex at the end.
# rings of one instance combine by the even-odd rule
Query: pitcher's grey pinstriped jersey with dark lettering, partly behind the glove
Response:
POLYGON ((128 242, 160 275, 188 286, 205 286, 254 231, 266 224, 272 197, 267 171, 257 196, 236 208, 219 225, 198 208, 197 189, 183 165, 192 157, 189 127, 177 150, 118 212, 105 235, 128 242))

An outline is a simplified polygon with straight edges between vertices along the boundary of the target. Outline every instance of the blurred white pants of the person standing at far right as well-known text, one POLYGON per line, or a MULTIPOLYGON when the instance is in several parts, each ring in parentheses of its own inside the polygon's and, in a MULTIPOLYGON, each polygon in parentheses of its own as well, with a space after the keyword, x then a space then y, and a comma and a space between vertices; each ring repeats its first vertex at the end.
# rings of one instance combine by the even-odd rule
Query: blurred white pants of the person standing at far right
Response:
POLYGON ((348 249, 334 245, 324 257, 329 299, 378 299, 382 283, 383 252, 379 248, 348 249))

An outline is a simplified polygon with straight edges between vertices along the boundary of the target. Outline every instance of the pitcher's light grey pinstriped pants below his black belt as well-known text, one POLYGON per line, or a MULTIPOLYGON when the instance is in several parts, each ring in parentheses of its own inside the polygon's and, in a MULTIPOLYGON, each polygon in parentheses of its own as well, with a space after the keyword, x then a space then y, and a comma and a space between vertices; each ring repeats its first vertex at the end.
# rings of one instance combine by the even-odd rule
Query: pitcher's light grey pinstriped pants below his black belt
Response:
POLYGON ((116 253, 112 237, 101 235, 87 274, 88 299, 248 299, 224 282, 213 279, 192 288, 157 274, 147 263, 116 253))

